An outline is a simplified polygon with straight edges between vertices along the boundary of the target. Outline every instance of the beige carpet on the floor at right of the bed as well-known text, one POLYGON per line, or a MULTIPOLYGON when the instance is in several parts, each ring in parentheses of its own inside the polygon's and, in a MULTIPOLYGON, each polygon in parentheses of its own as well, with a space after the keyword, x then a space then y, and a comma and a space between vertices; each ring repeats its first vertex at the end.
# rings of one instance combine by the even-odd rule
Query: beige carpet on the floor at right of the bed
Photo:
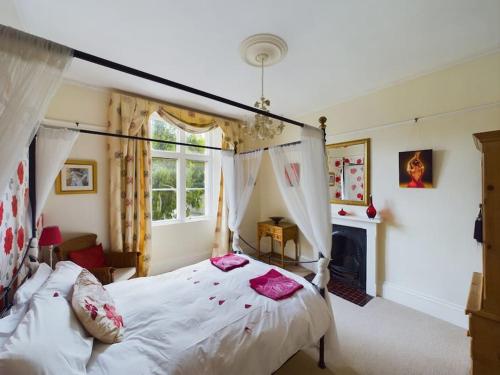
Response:
POLYGON ((332 295, 344 365, 316 366, 317 349, 299 352, 277 375, 466 375, 464 329, 382 298, 365 307, 332 295))

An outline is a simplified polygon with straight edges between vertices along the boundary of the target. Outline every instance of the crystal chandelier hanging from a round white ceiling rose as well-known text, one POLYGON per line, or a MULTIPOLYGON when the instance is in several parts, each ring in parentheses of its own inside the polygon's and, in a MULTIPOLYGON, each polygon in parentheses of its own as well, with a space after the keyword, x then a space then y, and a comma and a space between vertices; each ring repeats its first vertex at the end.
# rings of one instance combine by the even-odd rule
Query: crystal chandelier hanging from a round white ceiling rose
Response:
MULTIPOLYGON (((264 112, 270 112, 271 101, 264 96, 264 67, 280 62, 286 55, 288 47, 280 37, 272 34, 253 35, 242 42, 240 51, 243 59, 250 65, 260 68, 260 99, 254 107, 264 112)), ((274 120, 257 113, 242 124, 245 134, 260 140, 272 139, 283 132, 283 121, 274 120)))

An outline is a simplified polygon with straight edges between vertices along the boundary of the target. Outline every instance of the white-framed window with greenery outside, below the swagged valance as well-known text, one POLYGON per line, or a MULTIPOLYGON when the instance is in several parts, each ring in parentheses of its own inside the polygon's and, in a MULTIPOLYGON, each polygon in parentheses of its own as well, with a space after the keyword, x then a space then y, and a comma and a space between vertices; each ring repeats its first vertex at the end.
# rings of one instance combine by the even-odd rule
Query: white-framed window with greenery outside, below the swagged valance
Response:
MULTIPOLYGON (((196 145, 212 144, 213 134, 187 133, 151 116, 153 138, 196 145)), ((153 221, 189 221, 209 215, 213 151, 152 142, 153 221)))

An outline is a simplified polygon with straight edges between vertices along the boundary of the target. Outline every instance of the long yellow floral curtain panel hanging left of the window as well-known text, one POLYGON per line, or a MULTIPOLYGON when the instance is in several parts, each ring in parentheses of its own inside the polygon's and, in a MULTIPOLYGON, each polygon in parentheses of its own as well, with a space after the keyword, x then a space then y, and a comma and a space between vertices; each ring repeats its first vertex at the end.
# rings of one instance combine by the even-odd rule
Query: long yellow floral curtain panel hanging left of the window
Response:
MULTIPOLYGON (((113 93, 111 133, 149 137, 149 102, 113 93)), ((139 276, 149 273, 151 253, 150 142, 110 137, 110 238, 112 251, 138 251, 139 276)))

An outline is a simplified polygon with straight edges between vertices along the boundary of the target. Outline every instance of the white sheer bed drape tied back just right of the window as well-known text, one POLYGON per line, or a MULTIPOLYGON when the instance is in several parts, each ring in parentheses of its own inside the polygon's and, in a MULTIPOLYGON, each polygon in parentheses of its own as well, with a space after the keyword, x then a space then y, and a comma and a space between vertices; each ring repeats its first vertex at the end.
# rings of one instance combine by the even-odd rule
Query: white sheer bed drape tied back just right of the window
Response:
POLYGON ((228 227, 233 232, 233 251, 243 252, 240 247, 239 229, 250 201, 262 160, 262 150, 234 155, 222 151, 222 174, 228 207, 228 227))

